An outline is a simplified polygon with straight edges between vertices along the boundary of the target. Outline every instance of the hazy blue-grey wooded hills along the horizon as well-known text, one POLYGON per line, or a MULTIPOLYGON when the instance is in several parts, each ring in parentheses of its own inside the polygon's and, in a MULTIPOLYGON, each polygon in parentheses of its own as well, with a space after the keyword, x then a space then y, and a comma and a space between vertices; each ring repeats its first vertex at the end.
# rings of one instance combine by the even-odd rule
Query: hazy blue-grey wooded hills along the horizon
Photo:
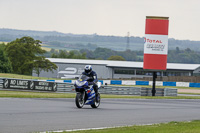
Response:
MULTIPOLYGON (((126 35, 126 33, 125 33, 126 35)), ((95 50, 97 47, 110 48, 112 50, 123 51, 126 48, 127 36, 102 36, 98 34, 65 34, 56 31, 44 32, 44 31, 31 31, 31 30, 15 30, 15 29, 2 29, 0 28, 0 41, 11 42, 16 38, 23 36, 31 36, 34 39, 40 40, 45 44, 48 44, 50 48, 62 48, 62 49, 78 49, 87 48, 95 50), (87 46, 90 44, 91 46, 87 46)), ((131 50, 142 50, 144 44, 143 37, 129 37, 131 50)), ((179 47, 181 50, 190 48, 194 51, 200 51, 200 41, 190 40, 176 40, 173 38, 168 39, 169 50, 179 47)))

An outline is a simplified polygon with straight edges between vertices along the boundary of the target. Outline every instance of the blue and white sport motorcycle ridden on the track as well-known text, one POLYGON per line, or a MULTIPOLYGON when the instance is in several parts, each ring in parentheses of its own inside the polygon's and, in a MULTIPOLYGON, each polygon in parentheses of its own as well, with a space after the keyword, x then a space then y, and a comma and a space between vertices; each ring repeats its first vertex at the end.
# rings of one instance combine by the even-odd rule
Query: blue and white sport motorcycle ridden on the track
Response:
MULTIPOLYGON (((95 96, 95 91, 93 85, 90 85, 90 77, 86 75, 81 75, 78 80, 74 83, 76 90, 76 106, 82 108, 84 105, 90 105, 92 108, 98 108, 100 105, 100 94, 95 96)), ((97 82, 98 88, 100 88, 101 83, 97 82)))

